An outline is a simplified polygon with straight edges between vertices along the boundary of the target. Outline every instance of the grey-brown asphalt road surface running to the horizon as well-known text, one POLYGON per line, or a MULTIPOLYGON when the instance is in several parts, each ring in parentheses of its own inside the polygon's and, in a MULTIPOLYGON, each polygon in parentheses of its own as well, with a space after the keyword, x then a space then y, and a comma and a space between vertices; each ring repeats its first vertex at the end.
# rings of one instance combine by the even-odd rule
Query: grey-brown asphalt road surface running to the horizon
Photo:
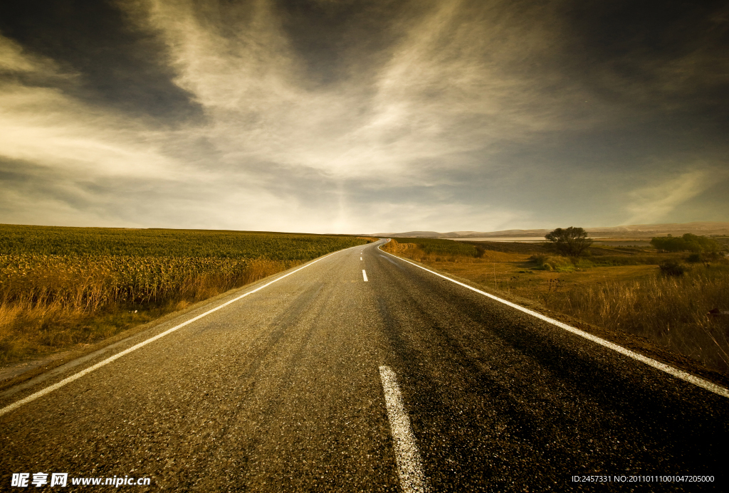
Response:
MULTIPOLYGON (((0 395, 0 406, 109 355, 0 395)), ((0 489, 21 491, 12 473, 42 472, 149 478, 120 486, 137 492, 401 491, 381 367, 397 381, 430 491, 726 488, 728 398, 375 244, 321 259, 7 412, 0 489), (572 481, 585 475, 625 482, 572 481), (655 481, 669 475, 714 482, 655 481)), ((56 489, 109 486, 69 479, 56 489)))

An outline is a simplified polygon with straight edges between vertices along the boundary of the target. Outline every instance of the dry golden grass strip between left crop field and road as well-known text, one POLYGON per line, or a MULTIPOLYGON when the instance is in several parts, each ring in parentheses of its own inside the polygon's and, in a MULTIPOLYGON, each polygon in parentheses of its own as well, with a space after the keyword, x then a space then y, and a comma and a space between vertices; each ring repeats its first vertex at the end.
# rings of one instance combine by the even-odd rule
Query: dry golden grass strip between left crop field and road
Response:
MULTIPOLYGON (((300 263, 238 261, 238 268, 227 272, 179 269, 178 275, 165 277, 159 269, 155 272, 164 259, 126 259, 129 264, 123 264, 133 266, 134 276, 105 269, 109 259, 85 259, 85 269, 69 269, 69 260, 82 264, 84 259, 55 260, 20 275, 8 275, 6 269, 0 288, 0 362, 89 344, 300 263)), ((208 261, 210 267, 216 264, 208 261)))

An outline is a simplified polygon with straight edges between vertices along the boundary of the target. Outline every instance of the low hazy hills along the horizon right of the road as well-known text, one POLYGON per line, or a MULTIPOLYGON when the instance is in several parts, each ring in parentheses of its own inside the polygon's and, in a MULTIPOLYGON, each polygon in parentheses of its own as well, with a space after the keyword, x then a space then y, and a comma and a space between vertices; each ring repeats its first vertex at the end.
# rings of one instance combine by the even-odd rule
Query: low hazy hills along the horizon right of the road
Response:
MULTIPOLYGON (((564 226, 566 227, 566 226, 564 226)), ((507 237, 544 237, 551 229, 504 229, 502 231, 454 231, 439 233, 436 231, 409 231, 405 233, 376 233, 371 236, 389 238, 507 238, 507 237)), ((585 228, 590 236, 625 236, 647 237, 651 235, 665 235, 684 233, 702 235, 729 234, 729 222, 693 222, 693 223, 667 223, 667 224, 631 224, 628 226, 602 226, 598 228, 585 228)))

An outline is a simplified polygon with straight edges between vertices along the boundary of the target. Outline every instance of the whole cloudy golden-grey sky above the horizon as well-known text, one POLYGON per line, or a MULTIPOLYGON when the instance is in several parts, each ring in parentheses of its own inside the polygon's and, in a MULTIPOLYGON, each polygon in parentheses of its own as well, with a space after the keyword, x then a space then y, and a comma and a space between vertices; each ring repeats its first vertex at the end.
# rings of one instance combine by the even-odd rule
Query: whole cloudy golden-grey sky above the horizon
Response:
POLYGON ((729 3, 0 2, 0 223, 729 221, 729 3))

